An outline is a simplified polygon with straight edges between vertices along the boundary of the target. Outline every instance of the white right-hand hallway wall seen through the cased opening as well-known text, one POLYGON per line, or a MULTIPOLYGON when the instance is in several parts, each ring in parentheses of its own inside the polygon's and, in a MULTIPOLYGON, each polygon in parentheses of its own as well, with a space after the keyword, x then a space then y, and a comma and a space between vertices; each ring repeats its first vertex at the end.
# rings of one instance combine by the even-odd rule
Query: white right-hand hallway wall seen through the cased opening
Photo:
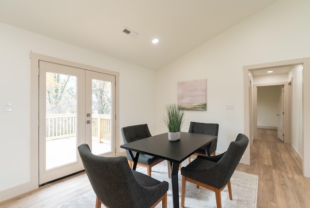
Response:
MULTIPOLYGON (((302 82, 303 66, 295 65, 289 72, 289 79, 293 78, 292 85, 292 139, 293 148, 303 158, 303 104, 302 104, 302 82)), ((305 106, 306 107, 306 106, 305 106)), ((304 126, 304 128, 308 128, 304 126)))

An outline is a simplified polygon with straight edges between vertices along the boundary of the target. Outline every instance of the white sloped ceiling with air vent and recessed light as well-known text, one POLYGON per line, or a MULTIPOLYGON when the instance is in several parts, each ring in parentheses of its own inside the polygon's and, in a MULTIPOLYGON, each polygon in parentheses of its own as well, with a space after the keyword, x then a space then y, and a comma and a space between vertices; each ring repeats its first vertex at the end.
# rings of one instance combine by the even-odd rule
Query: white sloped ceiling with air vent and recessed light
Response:
POLYGON ((0 21, 156 70, 275 1, 0 0, 0 21))

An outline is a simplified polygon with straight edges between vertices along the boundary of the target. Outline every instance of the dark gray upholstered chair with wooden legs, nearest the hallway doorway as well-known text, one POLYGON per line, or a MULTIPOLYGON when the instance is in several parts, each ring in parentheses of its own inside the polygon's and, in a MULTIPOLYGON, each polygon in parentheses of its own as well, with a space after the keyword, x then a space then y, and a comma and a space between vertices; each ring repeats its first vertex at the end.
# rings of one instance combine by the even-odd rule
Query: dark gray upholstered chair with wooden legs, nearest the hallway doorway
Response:
POLYGON ((233 200, 231 177, 248 146, 248 137, 238 134, 226 152, 212 157, 198 156, 186 167, 181 168, 181 207, 185 204, 186 181, 215 192, 217 208, 221 208, 221 191, 228 187, 229 198, 233 200))

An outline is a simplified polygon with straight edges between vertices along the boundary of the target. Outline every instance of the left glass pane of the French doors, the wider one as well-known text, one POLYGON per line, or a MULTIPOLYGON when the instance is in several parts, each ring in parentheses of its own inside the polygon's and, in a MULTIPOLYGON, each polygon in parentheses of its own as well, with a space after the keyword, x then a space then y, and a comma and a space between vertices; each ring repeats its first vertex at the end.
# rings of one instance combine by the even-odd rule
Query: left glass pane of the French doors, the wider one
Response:
POLYGON ((77 77, 46 73, 46 170, 77 161, 77 77))

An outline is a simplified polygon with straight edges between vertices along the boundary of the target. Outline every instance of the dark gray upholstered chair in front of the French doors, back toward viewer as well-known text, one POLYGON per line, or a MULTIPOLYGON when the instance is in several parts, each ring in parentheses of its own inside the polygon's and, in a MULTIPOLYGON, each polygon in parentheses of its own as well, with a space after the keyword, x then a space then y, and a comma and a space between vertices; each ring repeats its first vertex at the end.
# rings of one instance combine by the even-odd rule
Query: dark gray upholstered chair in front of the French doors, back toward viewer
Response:
POLYGON ((126 157, 107 158, 78 146, 86 174, 96 194, 96 208, 154 208, 160 201, 167 208, 168 182, 160 182, 129 168, 126 157))

